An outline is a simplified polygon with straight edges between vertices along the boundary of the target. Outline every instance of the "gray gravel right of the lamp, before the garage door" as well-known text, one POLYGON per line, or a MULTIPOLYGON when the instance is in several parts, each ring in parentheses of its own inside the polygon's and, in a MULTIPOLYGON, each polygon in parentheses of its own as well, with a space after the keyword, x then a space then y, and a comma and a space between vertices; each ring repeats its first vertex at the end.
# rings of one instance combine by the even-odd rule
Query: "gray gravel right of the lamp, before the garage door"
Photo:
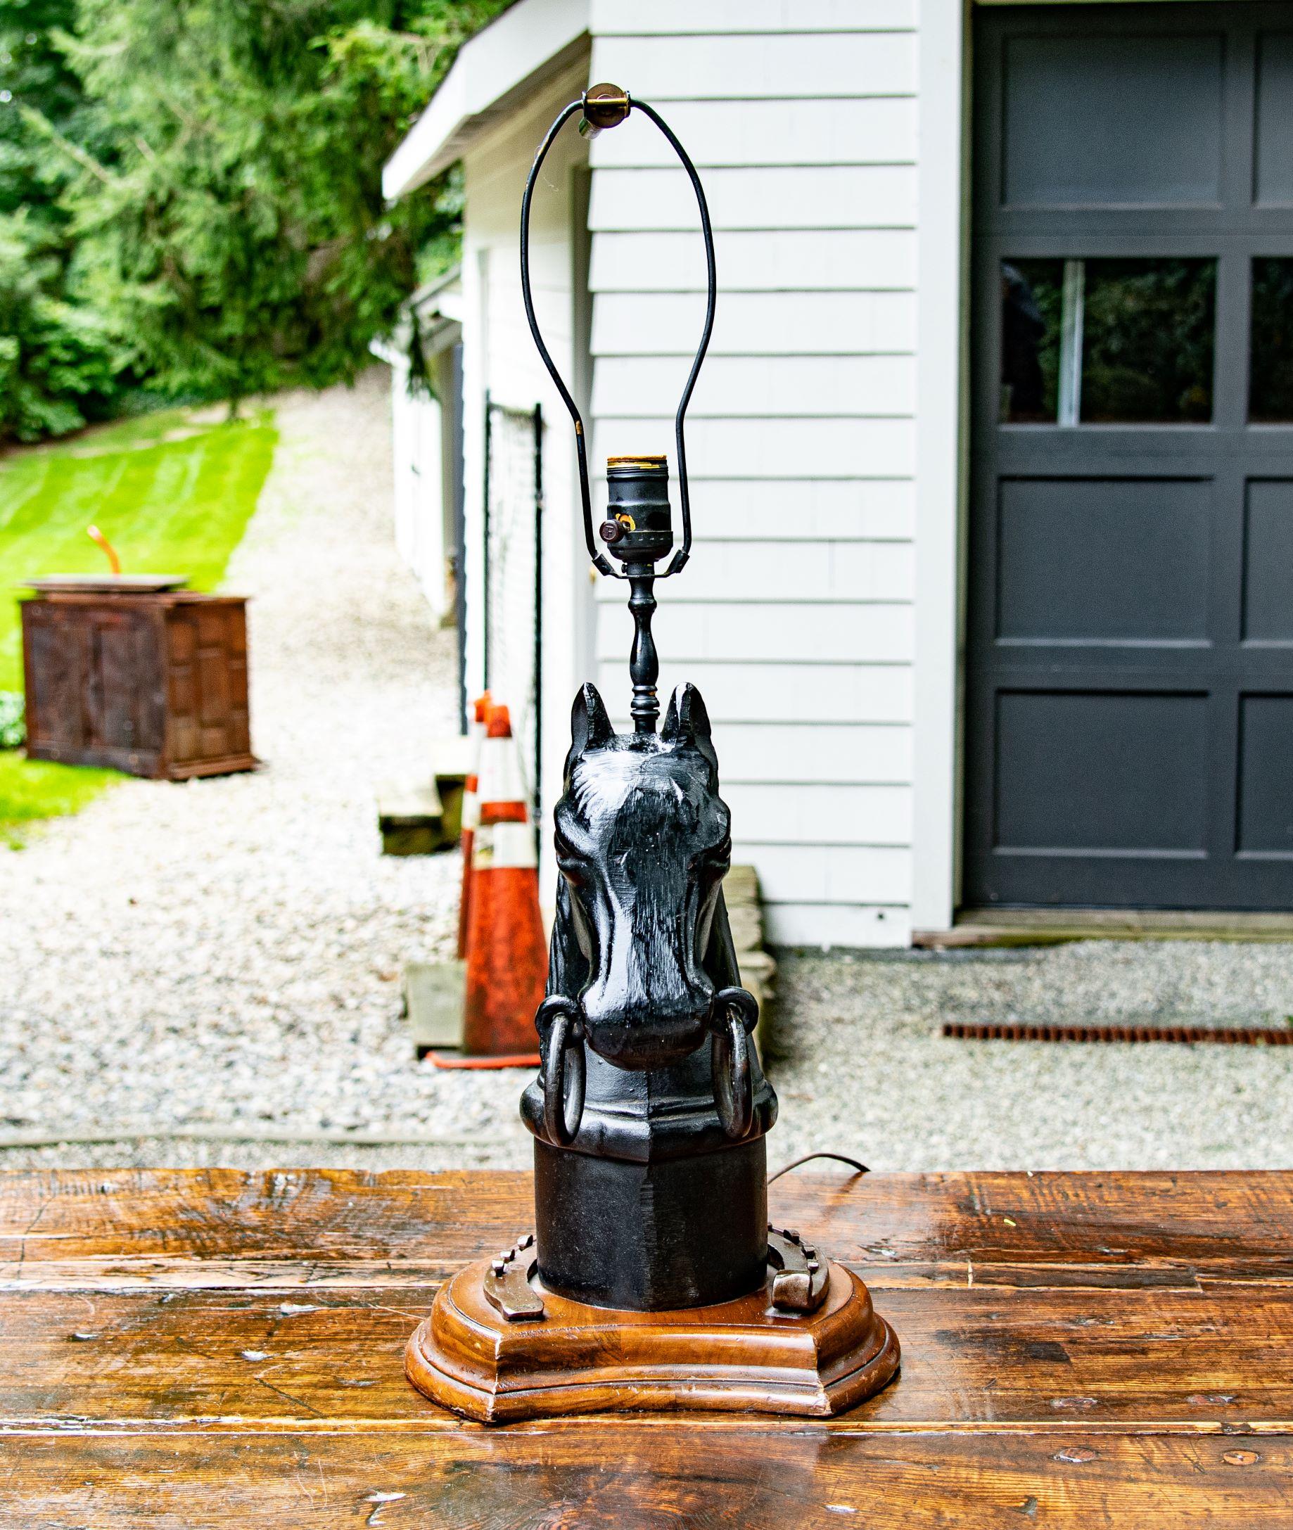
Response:
POLYGON ((773 1163, 826 1148, 874 1169, 1293 1166, 1293 1047, 940 1034, 952 1019, 1285 1025, 1293 946, 796 955, 779 987, 773 1163))

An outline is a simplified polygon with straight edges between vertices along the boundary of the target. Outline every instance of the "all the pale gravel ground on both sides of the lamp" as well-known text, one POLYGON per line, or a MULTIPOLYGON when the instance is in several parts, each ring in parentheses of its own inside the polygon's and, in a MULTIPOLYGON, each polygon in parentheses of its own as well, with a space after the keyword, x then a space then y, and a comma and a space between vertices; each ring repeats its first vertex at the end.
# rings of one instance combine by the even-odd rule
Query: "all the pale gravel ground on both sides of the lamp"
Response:
MULTIPOLYGON (((386 389, 375 370, 277 401, 282 442, 226 580, 254 597, 265 770, 125 782, 0 852, 0 1138, 125 1138, 9 1148, 0 1166, 528 1164, 525 1076, 416 1063, 399 1016, 404 961, 450 953, 459 861, 381 857, 373 791, 454 731, 456 667, 392 545, 386 389)), ((1293 944, 782 953, 779 987, 773 1164, 811 1149, 886 1169, 1293 1163, 1293 1048, 938 1034, 944 1019, 1282 1025, 1293 944)))

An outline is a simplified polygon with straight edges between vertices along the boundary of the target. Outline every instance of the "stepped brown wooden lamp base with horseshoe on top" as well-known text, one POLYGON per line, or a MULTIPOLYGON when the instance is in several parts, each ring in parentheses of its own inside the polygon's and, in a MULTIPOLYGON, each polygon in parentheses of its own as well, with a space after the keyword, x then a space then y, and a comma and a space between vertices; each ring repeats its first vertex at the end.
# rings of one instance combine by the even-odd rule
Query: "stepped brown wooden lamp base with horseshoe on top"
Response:
POLYGON ((682 1408, 823 1417, 898 1369, 894 1330, 839 1264, 823 1262, 819 1305, 805 1313, 773 1305, 776 1268, 757 1291, 718 1307, 641 1313, 555 1296, 533 1258, 519 1264, 461 1270, 404 1353, 419 1392, 479 1423, 682 1408))

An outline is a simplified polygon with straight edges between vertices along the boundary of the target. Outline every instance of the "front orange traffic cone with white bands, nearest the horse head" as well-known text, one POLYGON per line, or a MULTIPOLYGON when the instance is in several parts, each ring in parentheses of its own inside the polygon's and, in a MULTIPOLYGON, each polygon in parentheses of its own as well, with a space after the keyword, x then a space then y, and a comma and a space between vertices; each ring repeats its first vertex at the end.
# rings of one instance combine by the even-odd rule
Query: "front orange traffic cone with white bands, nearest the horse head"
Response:
POLYGON ((506 707, 480 745, 479 825, 471 846, 462 1056, 441 1068, 537 1068, 534 1011, 548 981, 534 825, 506 707))

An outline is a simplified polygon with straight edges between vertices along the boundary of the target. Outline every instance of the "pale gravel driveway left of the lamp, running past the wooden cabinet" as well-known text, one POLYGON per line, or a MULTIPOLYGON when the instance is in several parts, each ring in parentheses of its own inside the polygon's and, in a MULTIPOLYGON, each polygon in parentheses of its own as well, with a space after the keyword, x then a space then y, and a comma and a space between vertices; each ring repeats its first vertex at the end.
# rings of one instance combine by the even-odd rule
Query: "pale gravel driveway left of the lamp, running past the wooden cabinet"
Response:
MULTIPOLYGON (((277 401, 280 445, 225 580, 252 597, 265 768, 124 782, 0 852, 0 1131, 497 1128, 523 1146, 516 1077, 418 1066, 399 1019, 404 961, 451 950, 459 860, 379 855, 375 788, 424 774, 456 731, 456 656, 392 543, 387 379, 277 401)), ((0 1161, 286 1157, 155 1140, 0 1161)))

